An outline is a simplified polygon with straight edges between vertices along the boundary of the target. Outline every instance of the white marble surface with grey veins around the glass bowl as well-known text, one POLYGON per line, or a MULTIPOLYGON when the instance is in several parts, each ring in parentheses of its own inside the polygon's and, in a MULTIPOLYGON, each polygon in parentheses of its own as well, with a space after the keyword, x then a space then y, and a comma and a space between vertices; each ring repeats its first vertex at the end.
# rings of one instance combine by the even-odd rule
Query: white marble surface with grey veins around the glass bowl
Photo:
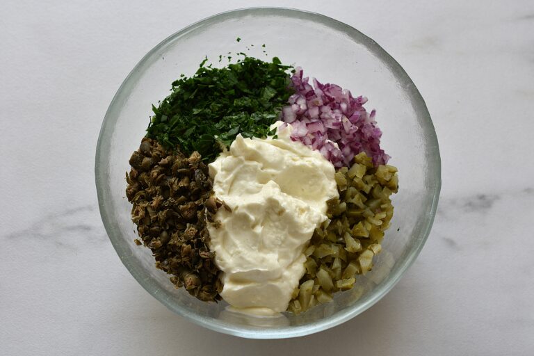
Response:
POLYGON ((533 1, 2 1, 0 355, 534 355, 533 1), (93 162, 124 77, 213 13, 293 6, 366 33, 426 99, 442 152, 435 225, 377 305, 254 341, 169 312, 122 266, 93 162), (332 352, 334 350, 334 352, 332 352))

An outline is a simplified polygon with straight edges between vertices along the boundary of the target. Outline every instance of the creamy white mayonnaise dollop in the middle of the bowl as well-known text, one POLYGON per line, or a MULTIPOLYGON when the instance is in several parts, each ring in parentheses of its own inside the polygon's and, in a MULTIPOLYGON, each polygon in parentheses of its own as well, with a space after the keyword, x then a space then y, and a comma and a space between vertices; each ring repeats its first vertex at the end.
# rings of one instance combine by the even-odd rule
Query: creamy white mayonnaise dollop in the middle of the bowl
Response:
POLYGON ((214 195, 232 209, 218 210, 220 227, 209 225, 220 295, 241 312, 287 309, 305 272, 303 249, 327 218, 326 201, 338 196, 332 163, 293 142, 291 130, 278 130, 277 139, 238 135, 209 165, 214 195))

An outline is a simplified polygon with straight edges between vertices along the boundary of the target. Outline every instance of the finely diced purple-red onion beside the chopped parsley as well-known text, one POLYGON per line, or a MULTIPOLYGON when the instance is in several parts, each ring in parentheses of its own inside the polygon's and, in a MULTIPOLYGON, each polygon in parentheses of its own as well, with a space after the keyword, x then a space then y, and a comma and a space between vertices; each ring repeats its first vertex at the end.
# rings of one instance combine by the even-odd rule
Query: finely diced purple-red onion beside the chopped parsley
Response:
POLYGON ((323 84, 303 77, 301 67, 291 76, 295 94, 282 108, 282 120, 293 126, 292 140, 300 140, 316 149, 334 167, 349 166, 356 154, 365 152, 380 165, 389 156, 380 148, 382 131, 375 121, 375 110, 367 113, 366 97, 353 97, 349 90, 336 84, 323 84))

